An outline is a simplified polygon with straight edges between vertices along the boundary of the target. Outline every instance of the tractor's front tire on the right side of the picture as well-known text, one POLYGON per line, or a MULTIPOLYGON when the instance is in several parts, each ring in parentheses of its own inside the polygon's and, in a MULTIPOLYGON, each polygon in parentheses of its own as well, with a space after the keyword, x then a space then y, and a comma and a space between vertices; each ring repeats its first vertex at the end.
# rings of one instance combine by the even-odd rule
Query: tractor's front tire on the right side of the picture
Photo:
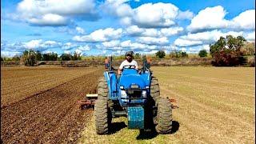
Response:
POLYGON ((156 130, 159 134, 168 134, 172 128, 172 110, 171 103, 166 98, 158 99, 158 114, 157 114, 156 130))

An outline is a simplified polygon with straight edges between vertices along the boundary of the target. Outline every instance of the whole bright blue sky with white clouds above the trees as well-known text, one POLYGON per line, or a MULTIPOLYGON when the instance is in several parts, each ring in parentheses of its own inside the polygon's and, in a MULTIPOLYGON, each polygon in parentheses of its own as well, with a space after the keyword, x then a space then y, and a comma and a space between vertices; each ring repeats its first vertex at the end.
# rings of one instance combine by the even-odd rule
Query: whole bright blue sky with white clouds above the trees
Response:
POLYGON ((1 56, 198 53, 227 34, 255 41, 255 1, 1 1, 1 56))

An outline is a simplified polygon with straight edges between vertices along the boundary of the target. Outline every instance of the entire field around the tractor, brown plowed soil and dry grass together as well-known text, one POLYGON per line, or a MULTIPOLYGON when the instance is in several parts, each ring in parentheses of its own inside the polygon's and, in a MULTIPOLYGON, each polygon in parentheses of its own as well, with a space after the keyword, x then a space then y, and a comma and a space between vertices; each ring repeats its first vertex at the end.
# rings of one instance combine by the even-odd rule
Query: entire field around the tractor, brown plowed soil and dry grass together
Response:
POLYGON ((254 143, 255 69, 152 67, 162 97, 174 98, 172 134, 128 130, 115 118, 97 135, 93 110, 75 102, 94 93, 102 68, 4 67, 1 70, 3 143, 254 143))

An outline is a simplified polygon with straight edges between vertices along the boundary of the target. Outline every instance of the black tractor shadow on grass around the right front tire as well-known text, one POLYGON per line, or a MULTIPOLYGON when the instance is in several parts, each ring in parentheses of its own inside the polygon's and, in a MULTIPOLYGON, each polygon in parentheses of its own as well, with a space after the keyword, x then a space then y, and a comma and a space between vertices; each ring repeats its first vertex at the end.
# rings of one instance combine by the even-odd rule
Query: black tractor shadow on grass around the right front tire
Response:
MULTIPOLYGON (((177 121, 172 122, 172 129, 170 134, 174 134, 179 129, 179 123, 177 121)), ((156 130, 140 130, 140 133, 138 134, 138 137, 136 139, 142 140, 142 139, 152 139, 158 136, 158 133, 156 130)))

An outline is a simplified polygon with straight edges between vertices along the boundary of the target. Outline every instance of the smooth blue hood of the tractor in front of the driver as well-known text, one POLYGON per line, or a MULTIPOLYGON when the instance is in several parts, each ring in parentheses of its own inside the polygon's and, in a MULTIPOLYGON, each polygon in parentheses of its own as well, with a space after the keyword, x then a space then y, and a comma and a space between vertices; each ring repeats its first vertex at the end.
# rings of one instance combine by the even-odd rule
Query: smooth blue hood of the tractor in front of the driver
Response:
POLYGON ((127 74, 120 77, 119 86, 124 86, 127 89, 131 85, 138 85, 138 88, 145 88, 146 82, 140 74, 127 74))

